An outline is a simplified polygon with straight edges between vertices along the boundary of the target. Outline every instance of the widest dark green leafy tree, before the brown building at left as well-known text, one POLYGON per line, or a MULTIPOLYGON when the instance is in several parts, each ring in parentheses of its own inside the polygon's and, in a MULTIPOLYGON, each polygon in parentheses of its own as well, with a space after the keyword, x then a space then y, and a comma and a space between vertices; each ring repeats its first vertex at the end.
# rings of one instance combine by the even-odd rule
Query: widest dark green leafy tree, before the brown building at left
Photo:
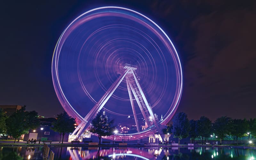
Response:
POLYGON ((36 118, 37 112, 25 110, 26 106, 23 106, 6 119, 7 134, 14 138, 14 143, 22 134, 28 133, 29 129, 40 125, 39 119, 36 118))

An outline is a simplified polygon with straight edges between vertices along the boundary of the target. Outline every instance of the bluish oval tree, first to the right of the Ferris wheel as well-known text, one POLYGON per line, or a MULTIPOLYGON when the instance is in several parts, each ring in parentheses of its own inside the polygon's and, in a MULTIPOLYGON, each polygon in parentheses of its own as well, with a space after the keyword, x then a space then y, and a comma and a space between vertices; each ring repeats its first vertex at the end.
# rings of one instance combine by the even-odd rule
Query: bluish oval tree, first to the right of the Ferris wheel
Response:
POLYGON ((190 124, 186 113, 180 112, 176 114, 173 119, 172 133, 174 138, 179 138, 179 144, 181 139, 188 137, 189 131, 190 124))

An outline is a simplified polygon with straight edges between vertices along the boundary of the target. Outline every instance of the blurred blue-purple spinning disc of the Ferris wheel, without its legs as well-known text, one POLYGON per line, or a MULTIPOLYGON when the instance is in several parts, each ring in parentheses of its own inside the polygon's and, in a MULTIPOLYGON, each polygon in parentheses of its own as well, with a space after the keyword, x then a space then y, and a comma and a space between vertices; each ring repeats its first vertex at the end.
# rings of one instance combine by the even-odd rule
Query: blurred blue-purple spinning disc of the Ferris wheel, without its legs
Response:
MULTIPOLYGON (((53 54, 52 79, 62 107, 78 122, 87 123, 89 119, 82 117, 80 113, 86 115, 89 111, 86 110, 87 113, 84 110, 81 112, 76 106, 82 106, 85 99, 96 104, 98 95, 93 95, 92 91, 98 94, 99 92, 96 89, 99 86, 100 95, 105 93, 107 88, 104 83, 113 83, 116 79, 113 75, 117 75, 120 64, 131 60, 145 67, 142 67, 140 71, 144 76, 141 79, 146 82, 143 85, 147 85, 149 97, 154 97, 154 101, 151 102, 154 113, 156 112, 157 115, 163 114, 164 111, 162 110, 165 109, 163 120, 159 123, 164 124, 169 121, 178 107, 183 87, 182 68, 177 51, 164 30, 154 21, 139 12, 122 7, 100 7, 85 12, 73 20, 61 34, 53 54), (81 30, 81 28, 83 29, 81 30), (78 35, 77 33, 79 33, 79 36, 75 38, 77 37, 75 35, 78 35), (83 42, 81 39, 84 39, 83 42), (99 40, 96 41, 96 39, 99 40), (72 53, 69 53, 67 47, 70 51, 72 50, 72 53), (95 50, 92 48, 95 48, 95 50), (87 50, 92 52, 89 53, 87 50), (95 59, 87 57, 95 57, 95 59), (104 59, 105 57, 107 58, 104 59), (120 60, 123 58, 123 61, 120 60), (102 62, 106 63, 102 64, 102 62), (82 64, 86 64, 87 67, 82 64), (161 66, 161 68, 159 69, 158 66, 161 66), (102 67, 106 68, 104 73, 102 67), (60 68, 67 68, 67 70, 60 68), (162 70, 162 72, 159 72, 159 70, 162 70), (89 71, 94 74, 90 74, 89 71), (102 74, 100 75, 100 73, 102 74), (88 74, 95 75, 95 77, 86 78, 85 75, 88 74), (164 77, 157 78, 159 74, 164 77), (72 77, 72 80, 67 77, 72 77), (105 77, 105 80, 109 80, 109 82, 103 82, 99 77, 105 77), (154 79, 154 81, 148 81, 148 77, 154 79), (91 84, 86 82, 88 79, 95 83, 88 86, 87 84, 91 84), (69 82, 72 83, 69 84, 69 82), (96 86, 95 90, 90 89, 91 86, 96 86), (173 86, 173 88, 170 86, 173 86), (76 95, 74 95, 74 92, 69 92, 69 88, 76 88, 78 91, 76 95), (152 96, 155 94, 152 91, 156 88, 160 88, 158 97, 152 96), (169 92, 170 90, 173 92, 169 92), (72 97, 76 97, 76 100, 72 97), (166 103, 166 98, 170 100, 168 105, 165 105, 167 107, 158 109, 158 106, 163 106, 160 105, 161 103, 166 103)), ((125 99, 117 94, 113 94, 113 98, 116 100, 125 99)), ((115 106, 104 109, 106 112, 117 116, 129 115, 125 110, 119 112, 118 109, 120 108, 115 108, 115 106)), ((150 132, 150 126, 145 131, 141 131, 140 134, 144 132, 150 132)))

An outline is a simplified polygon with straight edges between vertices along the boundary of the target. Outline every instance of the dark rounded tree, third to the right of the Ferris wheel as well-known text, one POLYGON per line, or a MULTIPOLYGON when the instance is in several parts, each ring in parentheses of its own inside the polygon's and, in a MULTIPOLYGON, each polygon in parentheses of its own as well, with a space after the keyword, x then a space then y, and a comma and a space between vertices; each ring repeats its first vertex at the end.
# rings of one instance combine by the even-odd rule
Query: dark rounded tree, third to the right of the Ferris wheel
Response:
POLYGON ((203 144, 203 141, 206 142, 206 139, 210 137, 211 129, 212 129, 212 121, 205 116, 201 116, 196 124, 197 124, 196 125, 197 134, 202 138, 202 144, 203 144))

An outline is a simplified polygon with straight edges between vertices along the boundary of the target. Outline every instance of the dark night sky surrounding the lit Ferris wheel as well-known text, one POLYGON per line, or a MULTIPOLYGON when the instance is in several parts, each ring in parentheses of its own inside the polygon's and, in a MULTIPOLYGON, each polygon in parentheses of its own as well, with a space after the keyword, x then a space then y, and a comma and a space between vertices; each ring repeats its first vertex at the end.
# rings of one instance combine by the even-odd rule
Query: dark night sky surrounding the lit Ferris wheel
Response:
POLYGON ((155 21, 180 56, 184 86, 177 112, 255 118, 256 1, 30 1, 1 3, 0 105, 39 115, 63 112, 52 84, 52 55, 80 14, 121 6, 155 21))

